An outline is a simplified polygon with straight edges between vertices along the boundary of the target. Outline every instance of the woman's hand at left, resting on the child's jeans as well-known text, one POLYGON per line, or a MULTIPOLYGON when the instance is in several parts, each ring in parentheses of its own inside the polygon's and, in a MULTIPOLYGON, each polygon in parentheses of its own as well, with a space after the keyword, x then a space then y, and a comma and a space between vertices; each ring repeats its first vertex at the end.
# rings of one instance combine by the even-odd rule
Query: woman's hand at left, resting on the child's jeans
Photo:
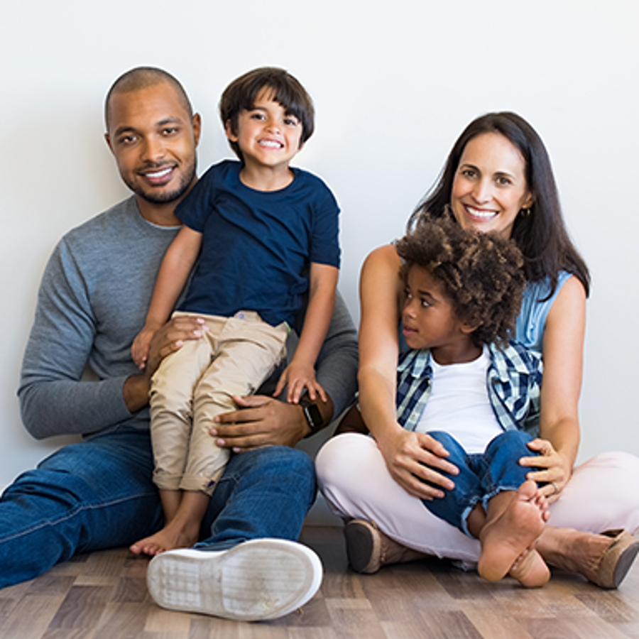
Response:
POLYGON ((431 500, 444 496, 439 486, 447 490, 455 487, 437 471, 457 475, 457 466, 446 461, 447 450, 430 435, 398 426, 383 446, 378 442, 378 447, 393 479, 411 495, 431 500))

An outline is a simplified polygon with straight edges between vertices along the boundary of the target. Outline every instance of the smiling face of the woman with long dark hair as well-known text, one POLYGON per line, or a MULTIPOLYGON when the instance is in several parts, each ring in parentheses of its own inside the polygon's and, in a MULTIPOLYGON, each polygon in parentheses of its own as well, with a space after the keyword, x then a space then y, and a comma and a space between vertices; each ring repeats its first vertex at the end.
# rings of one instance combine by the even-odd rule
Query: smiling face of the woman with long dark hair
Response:
POLYGON ((481 133, 466 144, 450 205, 463 229, 510 237, 520 209, 532 204, 519 149, 501 133, 481 133))

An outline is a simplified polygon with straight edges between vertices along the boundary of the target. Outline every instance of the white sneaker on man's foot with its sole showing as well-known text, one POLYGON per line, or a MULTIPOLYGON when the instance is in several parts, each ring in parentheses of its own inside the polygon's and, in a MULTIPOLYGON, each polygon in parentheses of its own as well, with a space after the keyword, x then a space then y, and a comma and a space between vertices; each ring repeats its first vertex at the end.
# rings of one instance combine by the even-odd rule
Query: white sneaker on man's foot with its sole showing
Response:
POLYGON ((169 550, 148 564, 153 601, 170 610, 238 621, 288 615, 322 583, 322 562, 310 548, 256 539, 230 550, 169 550))

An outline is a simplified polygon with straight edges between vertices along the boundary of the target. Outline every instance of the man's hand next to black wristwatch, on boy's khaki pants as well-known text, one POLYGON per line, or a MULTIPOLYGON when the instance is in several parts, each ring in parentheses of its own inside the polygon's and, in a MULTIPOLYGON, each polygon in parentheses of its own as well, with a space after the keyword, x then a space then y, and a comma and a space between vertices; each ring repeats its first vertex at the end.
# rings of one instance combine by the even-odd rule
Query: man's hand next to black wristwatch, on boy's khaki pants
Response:
MULTIPOLYGON (((241 410, 224 413, 215 418, 210 430, 215 443, 234 452, 263 446, 293 447, 308 435, 310 428, 304 411, 298 404, 288 404, 266 395, 233 396, 241 410)), ((332 417, 333 404, 317 402, 324 422, 332 417)))

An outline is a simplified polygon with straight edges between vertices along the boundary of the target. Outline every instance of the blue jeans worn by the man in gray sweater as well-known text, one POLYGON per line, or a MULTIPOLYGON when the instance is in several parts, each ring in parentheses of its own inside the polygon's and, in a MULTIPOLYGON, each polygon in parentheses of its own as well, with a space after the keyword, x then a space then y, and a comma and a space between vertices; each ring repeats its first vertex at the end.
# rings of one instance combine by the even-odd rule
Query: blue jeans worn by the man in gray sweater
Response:
MULTIPOLYGON (((148 430, 123 428, 66 446, 0 498, 0 588, 76 552, 128 546, 163 525, 148 430)), ((231 455, 203 523, 203 550, 261 537, 297 540, 315 499, 307 454, 268 447, 231 455)))

